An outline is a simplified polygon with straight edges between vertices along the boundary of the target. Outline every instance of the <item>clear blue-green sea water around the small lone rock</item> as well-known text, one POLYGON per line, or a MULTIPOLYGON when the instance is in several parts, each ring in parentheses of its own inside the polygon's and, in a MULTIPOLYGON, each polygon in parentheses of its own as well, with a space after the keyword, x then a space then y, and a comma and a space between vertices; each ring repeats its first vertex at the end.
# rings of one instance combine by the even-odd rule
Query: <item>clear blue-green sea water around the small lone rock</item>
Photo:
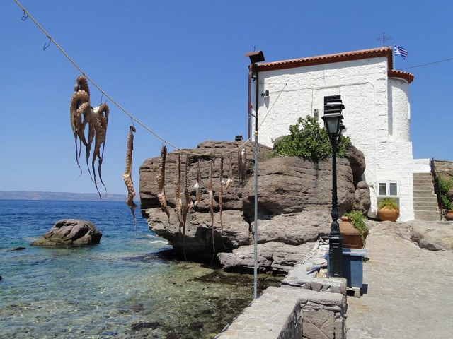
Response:
POLYGON ((253 278, 158 255, 170 248, 144 219, 134 234, 123 202, 0 200, 0 338, 213 338, 253 278), (93 222, 101 244, 30 246, 67 218, 93 222))

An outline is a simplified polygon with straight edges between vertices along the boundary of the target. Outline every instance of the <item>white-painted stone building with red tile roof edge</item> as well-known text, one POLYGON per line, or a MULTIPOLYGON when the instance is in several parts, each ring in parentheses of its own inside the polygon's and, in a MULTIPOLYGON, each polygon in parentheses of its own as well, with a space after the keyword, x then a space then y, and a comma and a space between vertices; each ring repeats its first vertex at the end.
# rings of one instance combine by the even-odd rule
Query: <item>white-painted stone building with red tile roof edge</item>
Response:
POLYGON ((365 155, 369 215, 376 215, 379 198, 391 196, 400 206, 398 221, 406 221, 414 219, 413 172, 430 172, 430 167, 412 155, 408 91, 413 75, 394 70, 392 61, 392 48, 382 47, 256 64, 258 95, 252 83, 251 116, 258 97, 258 142, 272 146, 299 117, 311 115, 323 124, 323 98, 341 95, 344 135, 365 155))

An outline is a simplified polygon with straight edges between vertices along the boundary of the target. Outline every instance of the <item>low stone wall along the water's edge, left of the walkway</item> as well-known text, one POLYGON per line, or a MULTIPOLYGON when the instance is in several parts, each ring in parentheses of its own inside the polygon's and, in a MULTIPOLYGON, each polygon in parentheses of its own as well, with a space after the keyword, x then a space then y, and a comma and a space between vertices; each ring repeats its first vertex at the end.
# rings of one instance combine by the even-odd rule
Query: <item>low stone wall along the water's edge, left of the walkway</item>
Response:
MULTIPOLYGON (((316 244, 316 258, 325 249, 316 244)), ((268 287, 216 339, 343 339, 346 280, 316 278, 311 262, 294 267, 282 287, 268 287)))

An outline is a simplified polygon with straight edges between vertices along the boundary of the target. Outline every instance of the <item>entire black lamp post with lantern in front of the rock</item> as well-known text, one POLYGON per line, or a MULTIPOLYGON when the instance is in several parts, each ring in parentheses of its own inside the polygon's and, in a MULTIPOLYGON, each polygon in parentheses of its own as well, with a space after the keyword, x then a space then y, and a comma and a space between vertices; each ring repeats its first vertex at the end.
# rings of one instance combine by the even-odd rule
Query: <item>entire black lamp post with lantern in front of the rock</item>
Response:
POLYGON ((328 137, 332 143, 332 224, 331 235, 328 237, 328 256, 330 263, 330 276, 341 278, 343 276, 343 237, 340 235, 338 225, 338 196, 337 196, 337 144, 341 132, 344 129, 342 124, 345 105, 340 95, 324 97, 324 115, 321 117, 326 125, 328 137))

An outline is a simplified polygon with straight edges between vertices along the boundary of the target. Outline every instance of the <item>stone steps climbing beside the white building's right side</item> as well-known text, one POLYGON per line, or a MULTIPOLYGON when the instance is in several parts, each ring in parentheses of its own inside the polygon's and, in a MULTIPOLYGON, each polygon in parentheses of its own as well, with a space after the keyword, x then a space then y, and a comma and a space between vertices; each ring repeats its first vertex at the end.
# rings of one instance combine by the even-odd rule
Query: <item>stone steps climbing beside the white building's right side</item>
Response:
POLYGON ((440 220, 431 173, 413 173, 413 209, 415 220, 440 220))

